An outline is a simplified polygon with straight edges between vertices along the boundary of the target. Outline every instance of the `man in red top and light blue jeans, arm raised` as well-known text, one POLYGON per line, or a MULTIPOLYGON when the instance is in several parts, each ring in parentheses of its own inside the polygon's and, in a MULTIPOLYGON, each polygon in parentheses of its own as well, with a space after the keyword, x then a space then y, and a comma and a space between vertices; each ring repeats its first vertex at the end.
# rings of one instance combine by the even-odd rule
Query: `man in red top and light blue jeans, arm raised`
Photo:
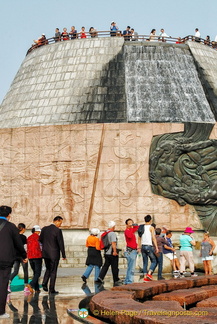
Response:
POLYGON ((135 232, 138 230, 139 226, 133 224, 133 220, 128 218, 125 221, 126 229, 124 231, 126 240, 126 251, 124 256, 127 259, 127 273, 125 278, 125 285, 133 283, 134 280, 134 270, 136 266, 137 257, 137 242, 135 232))

